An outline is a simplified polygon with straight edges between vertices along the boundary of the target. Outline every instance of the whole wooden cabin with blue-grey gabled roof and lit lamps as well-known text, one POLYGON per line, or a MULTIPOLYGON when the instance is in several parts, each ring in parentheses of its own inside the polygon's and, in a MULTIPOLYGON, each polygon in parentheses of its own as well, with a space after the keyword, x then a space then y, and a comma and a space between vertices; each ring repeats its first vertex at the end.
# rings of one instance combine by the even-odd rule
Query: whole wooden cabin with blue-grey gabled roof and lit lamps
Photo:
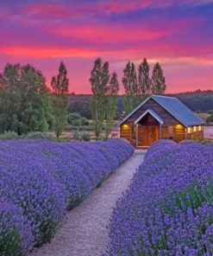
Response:
POLYGON ((151 95, 119 125, 120 137, 135 148, 147 148, 161 138, 175 142, 204 138, 204 120, 179 99, 166 96, 151 95))

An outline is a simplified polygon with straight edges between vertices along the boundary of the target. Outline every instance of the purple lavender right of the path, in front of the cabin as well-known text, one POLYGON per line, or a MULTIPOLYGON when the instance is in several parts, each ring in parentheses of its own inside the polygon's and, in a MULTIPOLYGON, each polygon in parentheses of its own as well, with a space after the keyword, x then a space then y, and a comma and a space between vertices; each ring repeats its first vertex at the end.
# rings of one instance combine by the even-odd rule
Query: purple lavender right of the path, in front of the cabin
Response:
POLYGON ((213 255, 213 144, 154 143, 109 230, 105 256, 213 255))

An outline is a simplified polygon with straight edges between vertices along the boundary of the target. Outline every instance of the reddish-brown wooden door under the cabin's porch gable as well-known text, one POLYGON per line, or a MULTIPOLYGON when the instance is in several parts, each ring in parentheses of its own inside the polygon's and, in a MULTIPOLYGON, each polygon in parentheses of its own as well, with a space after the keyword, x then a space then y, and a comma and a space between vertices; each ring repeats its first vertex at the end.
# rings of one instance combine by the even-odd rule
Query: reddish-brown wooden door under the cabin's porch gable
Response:
POLYGON ((150 146, 159 139, 159 126, 142 126, 141 140, 143 146, 150 146))

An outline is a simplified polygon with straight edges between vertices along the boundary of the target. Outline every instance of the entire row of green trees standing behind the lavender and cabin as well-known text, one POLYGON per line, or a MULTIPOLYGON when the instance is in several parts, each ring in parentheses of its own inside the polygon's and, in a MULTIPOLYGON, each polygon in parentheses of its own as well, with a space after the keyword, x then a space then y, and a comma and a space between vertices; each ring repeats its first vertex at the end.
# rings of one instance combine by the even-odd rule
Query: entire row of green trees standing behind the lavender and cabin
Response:
MULTIPOLYGON (((90 112, 94 133, 100 138, 104 126, 104 138, 110 134, 117 112, 119 82, 117 74, 110 74, 108 61, 98 58, 91 69, 90 112)), ((149 66, 144 59, 136 74, 135 64, 128 61, 123 69, 122 84, 125 89, 123 104, 128 113, 149 93, 163 94, 165 77, 159 63, 149 77, 149 66)), ((71 111, 69 80, 63 61, 59 73, 53 76, 48 88, 46 78, 34 66, 8 63, 0 74, 0 133, 16 131, 18 135, 31 131, 54 130, 57 138, 65 128, 68 111, 71 111)), ((87 107, 87 108, 88 108, 87 107)), ((82 109, 88 112, 87 109, 82 109)), ((75 111, 76 112, 76 111, 75 111)))

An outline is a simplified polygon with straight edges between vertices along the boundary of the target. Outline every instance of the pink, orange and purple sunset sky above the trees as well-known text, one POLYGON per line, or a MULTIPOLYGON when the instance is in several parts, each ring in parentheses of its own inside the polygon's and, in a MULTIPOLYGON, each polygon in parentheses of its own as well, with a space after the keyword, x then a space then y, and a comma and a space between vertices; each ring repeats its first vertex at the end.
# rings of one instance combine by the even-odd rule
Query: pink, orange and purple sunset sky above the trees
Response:
POLYGON ((0 73, 30 63, 47 77, 66 63, 70 92, 91 93, 97 57, 119 76, 127 61, 160 62, 166 93, 213 89, 213 0, 0 1, 0 73))

